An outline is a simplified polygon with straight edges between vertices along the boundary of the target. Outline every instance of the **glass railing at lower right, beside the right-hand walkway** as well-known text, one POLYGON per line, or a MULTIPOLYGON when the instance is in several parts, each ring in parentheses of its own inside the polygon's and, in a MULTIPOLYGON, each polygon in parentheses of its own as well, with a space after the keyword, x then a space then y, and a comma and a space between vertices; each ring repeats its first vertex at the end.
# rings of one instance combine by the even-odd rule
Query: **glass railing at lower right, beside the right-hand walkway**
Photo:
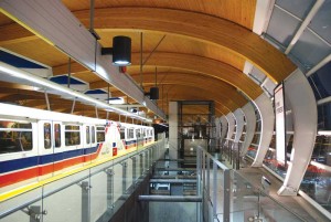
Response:
POLYGON ((202 147, 197 148, 196 172, 203 200, 197 221, 305 221, 202 147))

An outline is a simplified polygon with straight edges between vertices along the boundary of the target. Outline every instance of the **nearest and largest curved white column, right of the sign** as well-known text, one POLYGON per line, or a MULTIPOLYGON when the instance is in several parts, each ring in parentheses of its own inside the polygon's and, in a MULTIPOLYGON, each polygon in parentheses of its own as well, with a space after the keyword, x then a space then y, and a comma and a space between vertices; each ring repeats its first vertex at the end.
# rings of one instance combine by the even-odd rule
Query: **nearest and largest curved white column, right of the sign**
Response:
POLYGON ((306 76, 298 68, 285 81, 293 117, 293 148, 280 195, 297 195, 310 162, 317 135, 317 104, 306 76))

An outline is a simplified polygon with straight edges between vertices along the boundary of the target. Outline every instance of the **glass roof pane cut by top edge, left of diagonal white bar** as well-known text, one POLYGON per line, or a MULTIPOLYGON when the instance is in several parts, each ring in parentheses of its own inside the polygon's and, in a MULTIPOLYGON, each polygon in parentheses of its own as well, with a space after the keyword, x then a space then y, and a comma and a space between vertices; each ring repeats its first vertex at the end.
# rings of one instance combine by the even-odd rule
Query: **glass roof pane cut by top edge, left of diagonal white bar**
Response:
POLYGON ((276 0, 276 4, 291 12, 300 19, 305 19, 312 8, 314 0, 276 0))

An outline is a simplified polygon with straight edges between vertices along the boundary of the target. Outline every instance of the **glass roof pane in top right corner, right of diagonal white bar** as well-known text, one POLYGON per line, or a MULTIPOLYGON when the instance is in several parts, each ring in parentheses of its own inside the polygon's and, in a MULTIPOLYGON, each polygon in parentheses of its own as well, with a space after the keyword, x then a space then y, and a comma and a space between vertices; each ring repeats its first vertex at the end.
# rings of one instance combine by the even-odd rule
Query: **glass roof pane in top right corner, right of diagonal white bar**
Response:
POLYGON ((309 28, 331 43, 331 1, 327 0, 312 18, 309 28))

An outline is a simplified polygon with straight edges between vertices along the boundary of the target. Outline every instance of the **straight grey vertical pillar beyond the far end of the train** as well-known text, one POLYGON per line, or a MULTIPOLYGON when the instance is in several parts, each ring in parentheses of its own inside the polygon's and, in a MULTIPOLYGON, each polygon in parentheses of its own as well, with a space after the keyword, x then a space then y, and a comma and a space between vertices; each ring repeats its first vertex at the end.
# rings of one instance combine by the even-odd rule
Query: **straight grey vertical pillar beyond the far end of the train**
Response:
POLYGON ((178 159, 178 103, 169 103, 169 158, 178 159))

